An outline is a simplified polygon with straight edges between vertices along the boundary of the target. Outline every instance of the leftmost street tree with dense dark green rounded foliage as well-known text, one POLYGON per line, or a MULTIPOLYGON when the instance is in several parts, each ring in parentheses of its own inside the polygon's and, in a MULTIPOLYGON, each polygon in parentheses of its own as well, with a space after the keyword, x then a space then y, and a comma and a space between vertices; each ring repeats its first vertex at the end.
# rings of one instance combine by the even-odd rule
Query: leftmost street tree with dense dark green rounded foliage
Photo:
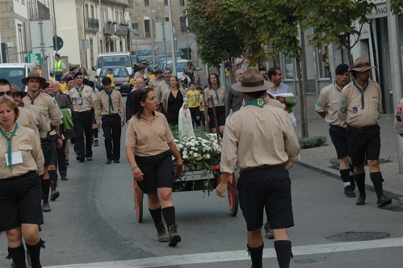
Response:
MULTIPOLYGON (((208 0, 189 0, 187 17, 191 31, 195 33, 197 54, 203 64, 219 66, 223 61, 229 64, 231 81, 235 81, 232 72, 234 58, 242 54, 243 40, 229 24, 213 21, 207 11, 208 0)), ((225 75, 225 72, 222 72, 225 75)))

